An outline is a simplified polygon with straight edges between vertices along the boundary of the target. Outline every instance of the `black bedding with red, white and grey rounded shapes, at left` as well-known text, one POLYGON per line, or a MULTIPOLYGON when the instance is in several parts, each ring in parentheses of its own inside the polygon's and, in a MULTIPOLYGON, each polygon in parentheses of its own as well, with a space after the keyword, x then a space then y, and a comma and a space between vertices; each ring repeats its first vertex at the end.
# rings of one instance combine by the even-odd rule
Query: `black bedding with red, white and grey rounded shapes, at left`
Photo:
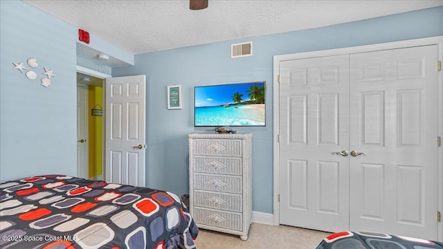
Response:
POLYGON ((199 229, 170 192, 35 176, 0 184, 0 248, 195 248, 199 229))

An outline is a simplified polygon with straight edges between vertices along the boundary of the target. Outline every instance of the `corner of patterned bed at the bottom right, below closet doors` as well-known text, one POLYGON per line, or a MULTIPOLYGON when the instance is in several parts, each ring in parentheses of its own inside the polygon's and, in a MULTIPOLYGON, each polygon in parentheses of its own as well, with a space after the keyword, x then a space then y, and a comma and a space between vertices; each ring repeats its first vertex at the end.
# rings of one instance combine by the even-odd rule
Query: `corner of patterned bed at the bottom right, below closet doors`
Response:
POLYGON ((316 249, 443 249, 443 243, 374 232, 336 232, 316 249))

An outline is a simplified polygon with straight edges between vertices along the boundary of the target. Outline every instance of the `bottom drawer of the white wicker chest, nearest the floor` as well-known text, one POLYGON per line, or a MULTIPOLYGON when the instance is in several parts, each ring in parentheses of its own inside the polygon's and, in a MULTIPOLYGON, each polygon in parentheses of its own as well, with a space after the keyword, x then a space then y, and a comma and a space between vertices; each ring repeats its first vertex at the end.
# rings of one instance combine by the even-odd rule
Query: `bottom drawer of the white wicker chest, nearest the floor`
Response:
POLYGON ((219 228, 242 230, 242 213, 222 212, 195 207, 192 218, 197 223, 197 226, 204 224, 219 228))

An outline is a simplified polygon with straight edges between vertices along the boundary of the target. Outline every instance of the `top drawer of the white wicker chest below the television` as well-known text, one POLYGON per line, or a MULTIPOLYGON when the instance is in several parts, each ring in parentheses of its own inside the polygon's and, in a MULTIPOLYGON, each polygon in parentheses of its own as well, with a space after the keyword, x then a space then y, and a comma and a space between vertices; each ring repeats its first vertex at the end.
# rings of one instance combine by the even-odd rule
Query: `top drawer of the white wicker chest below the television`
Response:
POLYGON ((194 156, 242 156, 242 140, 195 139, 194 156))

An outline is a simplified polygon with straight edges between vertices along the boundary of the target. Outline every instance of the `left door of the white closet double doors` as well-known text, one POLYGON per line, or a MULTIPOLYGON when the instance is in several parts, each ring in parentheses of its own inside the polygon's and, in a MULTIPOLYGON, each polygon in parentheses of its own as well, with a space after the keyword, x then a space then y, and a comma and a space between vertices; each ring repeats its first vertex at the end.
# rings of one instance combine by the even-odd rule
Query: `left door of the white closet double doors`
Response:
POLYGON ((348 105, 348 55, 280 62, 280 223, 349 227, 348 105))

